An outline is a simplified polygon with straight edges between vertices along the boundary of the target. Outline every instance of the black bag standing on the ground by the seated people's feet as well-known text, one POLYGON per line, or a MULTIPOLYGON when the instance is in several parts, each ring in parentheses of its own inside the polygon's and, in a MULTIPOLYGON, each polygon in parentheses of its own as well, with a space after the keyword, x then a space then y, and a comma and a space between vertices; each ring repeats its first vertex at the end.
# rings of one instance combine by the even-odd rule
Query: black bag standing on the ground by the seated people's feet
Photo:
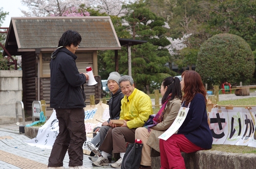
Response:
POLYGON ((129 143, 123 156, 121 169, 138 169, 140 167, 142 143, 129 143))

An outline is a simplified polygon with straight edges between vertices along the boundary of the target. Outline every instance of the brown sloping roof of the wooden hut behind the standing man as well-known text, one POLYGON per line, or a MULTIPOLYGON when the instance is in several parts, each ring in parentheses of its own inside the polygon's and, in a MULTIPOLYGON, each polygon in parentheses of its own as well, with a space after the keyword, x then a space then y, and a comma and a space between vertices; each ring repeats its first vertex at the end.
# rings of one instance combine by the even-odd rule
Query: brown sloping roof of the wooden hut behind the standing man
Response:
POLYGON ((19 52, 56 49, 59 38, 67 30, 82 36, 79 49, 121 49, 109 16, 12 17, 5 47, 19 52))

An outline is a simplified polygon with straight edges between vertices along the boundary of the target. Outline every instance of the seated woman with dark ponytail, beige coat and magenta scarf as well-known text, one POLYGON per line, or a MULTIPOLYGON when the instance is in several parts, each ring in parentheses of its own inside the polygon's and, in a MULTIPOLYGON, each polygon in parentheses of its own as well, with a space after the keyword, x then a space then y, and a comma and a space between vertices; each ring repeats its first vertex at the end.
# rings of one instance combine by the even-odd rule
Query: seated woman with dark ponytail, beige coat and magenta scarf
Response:
POLYGON ((151 148, 160 152, 158 136, 173 124, 181 106, 182 92, 179 78, 165 78, 160 92, 162 107, 153 118, 153 125, 140 127, 135 131, 135 139, 140 139, 143 143, 140 168, 151 168, 151 148))

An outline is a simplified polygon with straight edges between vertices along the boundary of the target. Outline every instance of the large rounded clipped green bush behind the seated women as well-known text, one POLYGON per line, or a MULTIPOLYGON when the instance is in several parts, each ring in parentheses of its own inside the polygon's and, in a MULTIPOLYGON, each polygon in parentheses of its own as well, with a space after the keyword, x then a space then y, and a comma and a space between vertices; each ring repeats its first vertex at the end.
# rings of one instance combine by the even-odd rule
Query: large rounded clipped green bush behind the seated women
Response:
POLYGON ((248 43, 232 34, 218 34, 205 41, 198 53, 196 71, 203 83, 239 84, 252 78, 255 64, 248 43))

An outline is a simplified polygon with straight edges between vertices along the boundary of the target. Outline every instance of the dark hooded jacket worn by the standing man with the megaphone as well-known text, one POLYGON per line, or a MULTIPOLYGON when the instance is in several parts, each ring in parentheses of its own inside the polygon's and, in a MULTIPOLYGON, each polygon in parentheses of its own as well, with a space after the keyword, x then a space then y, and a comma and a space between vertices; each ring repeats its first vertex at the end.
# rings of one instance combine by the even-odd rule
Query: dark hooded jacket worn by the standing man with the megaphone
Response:
POLYGON ((76 66, 77 56, 66 47, 52 53, 50 107, 72 109, 86 107, 81 85, 86 83, 86 76, 79 74, 76 66))

